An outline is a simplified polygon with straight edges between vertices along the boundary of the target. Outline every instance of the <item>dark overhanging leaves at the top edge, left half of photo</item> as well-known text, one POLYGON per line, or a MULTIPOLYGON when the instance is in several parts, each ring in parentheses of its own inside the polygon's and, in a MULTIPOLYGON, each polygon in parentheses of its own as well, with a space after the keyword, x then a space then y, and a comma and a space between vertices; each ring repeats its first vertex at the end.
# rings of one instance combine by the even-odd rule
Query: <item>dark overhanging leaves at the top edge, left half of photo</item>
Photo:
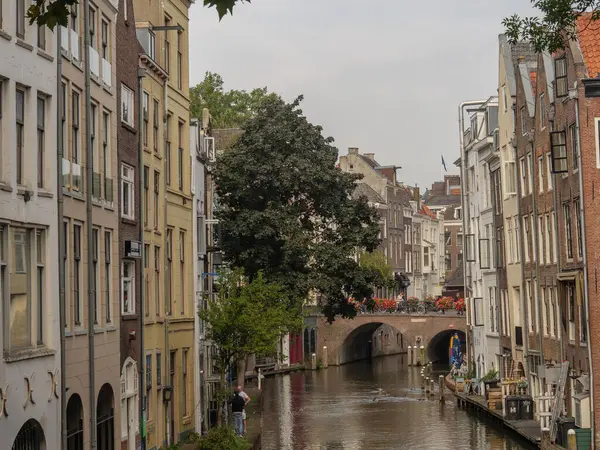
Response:
MULTIPOLYGON (((66 25, 69 17, 69 8, 79 3, 80 0, 33 0, 27 10, 29 23, 37 22, 46 25, 51 30, 58 25, 66 25)), ((233 7, 237 3, 250 3, 250 0, 204 0, 204 6, 215 7, 219 20, 227 14, 233 14, 233 7)))

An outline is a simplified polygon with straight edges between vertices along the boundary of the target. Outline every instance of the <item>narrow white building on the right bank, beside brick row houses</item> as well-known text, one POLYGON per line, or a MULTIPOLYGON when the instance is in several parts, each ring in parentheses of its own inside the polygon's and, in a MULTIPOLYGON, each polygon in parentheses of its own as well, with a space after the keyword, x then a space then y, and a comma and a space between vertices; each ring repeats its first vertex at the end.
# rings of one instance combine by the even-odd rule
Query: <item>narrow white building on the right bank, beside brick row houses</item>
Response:
MULTIPOLYGON (((467 320, 477 377, 500 368, 497 277, 494 261, 494 211, 489 163, 495 157, 494 131, 498 99, 490 97, 471 109, 461 146, 463 229, 467 320)), ((466 115, 466 114, 465 114, 466 115)), ((465 120, 466 122, 466 120, 465 120)), ((503 257, 503 256, 502 256, 503 257)))

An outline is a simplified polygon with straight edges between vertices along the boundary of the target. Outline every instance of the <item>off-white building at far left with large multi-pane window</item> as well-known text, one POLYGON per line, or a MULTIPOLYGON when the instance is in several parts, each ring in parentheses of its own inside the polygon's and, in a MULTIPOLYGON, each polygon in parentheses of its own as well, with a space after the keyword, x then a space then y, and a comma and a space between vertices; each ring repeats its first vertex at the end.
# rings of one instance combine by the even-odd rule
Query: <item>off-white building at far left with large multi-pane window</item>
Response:
POLYGON ((0 1, 0 436, 59 449, 58 46, 28 3, 0 1))

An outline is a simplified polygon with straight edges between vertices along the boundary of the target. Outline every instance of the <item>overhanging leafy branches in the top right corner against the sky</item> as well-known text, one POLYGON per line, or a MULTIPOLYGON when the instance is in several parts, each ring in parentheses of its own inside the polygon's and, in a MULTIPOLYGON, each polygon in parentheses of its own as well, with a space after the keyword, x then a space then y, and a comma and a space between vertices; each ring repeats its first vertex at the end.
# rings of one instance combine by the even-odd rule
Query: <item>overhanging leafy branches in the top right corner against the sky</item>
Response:
POLYGON ((531 0, 540 17, 520 17, 517 14, 502 21, 511 43, 529 42, 538 52, 564 48, 576 37, 577 19, 586 12, 591 20, 600 18, 600 0, 531 0))

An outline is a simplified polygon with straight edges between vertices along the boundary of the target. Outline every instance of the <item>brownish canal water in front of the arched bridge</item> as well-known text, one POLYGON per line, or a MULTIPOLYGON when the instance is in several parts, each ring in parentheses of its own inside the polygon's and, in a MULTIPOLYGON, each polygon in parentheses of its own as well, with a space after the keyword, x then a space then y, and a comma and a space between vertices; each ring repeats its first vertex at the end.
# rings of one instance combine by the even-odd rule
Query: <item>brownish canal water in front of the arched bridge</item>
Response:
POLYGON ((386 356, 264 380, 263 450, 531 450, 447 401, 425 399, 420 369, 386 356))

